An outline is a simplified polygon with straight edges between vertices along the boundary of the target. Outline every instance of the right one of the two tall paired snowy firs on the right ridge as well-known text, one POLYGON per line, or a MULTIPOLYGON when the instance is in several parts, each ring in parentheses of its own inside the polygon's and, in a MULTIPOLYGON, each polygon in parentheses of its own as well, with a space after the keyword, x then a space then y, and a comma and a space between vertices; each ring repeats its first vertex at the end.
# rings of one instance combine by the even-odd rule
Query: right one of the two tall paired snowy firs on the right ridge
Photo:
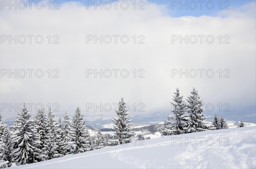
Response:
POLYGON ((191 95, 187 99, 187 112, 189 114, 188 126, 185 128, 188 133, 191 132, 201 132, 207 130, 206 123, 204 119, 205 115, 202 113, 204 111, 203 101, 198 95, 198 91, 193 88, 191 95))

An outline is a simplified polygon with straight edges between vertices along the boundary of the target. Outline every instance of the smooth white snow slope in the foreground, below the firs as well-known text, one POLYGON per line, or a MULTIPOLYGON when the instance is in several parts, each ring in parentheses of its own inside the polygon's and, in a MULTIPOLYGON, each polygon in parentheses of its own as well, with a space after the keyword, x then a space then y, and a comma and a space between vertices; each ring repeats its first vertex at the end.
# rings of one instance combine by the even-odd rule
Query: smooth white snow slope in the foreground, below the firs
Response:
POLYGON ((135 143, 13 168, 256 168, 255 126, 167 136, 135 143), (214 143, 210 146, 212 140, 214 143))

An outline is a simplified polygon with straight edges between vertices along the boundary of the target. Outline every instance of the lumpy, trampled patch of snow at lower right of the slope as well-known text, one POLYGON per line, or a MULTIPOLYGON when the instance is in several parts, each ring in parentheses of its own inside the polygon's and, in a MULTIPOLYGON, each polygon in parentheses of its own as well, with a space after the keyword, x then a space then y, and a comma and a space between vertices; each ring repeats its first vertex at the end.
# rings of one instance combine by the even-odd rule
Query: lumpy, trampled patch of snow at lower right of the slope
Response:
MULTIPOLYGON (((217 144, 212 146, 194 146, 189 147, 187 151, 180 153, 176 159, 188 168, 215 168, 219 163, 219 168, 255 168, 256 167, 256 147, 255 147, 255 131, 248 133, 249 137, 239 135, 237 132, 231 132, 226 137, 230 138, 228 143, 230 146, 219 146, 217 140, 221 135, 213 137, 217 140, 217 144), (221 148, 221 151, 218 149, 221 148), (196 152, 196 153, 195 153, 196 152), (207 160, 211 157, 210 161, 207 160), (198 160, 200 161, 198 163, 198 160)), ((222 141, 222 144, 223 141, 222 141)))

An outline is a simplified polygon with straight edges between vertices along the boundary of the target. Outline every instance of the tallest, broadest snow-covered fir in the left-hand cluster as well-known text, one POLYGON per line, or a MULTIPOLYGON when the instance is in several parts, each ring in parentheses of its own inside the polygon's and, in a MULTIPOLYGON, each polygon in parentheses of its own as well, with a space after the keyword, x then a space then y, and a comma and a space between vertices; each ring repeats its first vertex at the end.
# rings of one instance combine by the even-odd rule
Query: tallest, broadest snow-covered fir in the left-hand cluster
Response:
POLYGON ((30 159, 33 155, 32 129, 29 122, 31 113, 24 104, 22 110, 17 113, 15 123, 13 125, 14 132, 12 134, 12 142, 14 143, 14 162, 17 165, 31 163, 30 159))

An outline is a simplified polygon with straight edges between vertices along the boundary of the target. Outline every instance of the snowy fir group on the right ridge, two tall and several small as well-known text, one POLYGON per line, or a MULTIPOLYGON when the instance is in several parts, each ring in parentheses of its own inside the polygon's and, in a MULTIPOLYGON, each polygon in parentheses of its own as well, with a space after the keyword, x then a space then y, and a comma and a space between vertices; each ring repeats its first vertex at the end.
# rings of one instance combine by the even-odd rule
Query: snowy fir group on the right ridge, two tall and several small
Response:
MULTIPOLYGON (((203 114, 203 100, 200 99, 198 91, 193 88, 191 95, 187 98, 187 103, 183 101, 180 95, 180 89, 176 89, 172 99, 172 114, 167 114, 167 119, 161 127, 162 135, 180 135, 184 133, 201 132, 214 129, 227 129, 226 120, 215 115, 212 124, 207 124, 203 114)), ((239 122, 239 127, 244 126, 243 121, 239 122)))

